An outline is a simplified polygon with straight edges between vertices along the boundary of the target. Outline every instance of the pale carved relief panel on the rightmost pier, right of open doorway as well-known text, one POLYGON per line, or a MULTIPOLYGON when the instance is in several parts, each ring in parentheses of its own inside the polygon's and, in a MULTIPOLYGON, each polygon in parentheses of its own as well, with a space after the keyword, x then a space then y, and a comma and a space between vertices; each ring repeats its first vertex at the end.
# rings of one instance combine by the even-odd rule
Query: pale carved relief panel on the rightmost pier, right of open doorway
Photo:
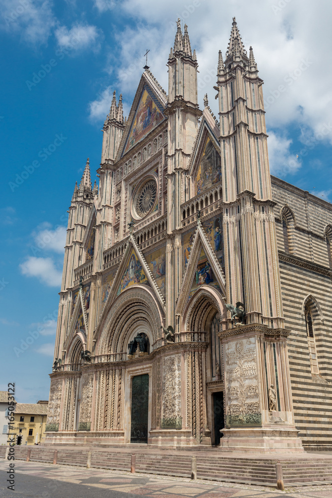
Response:
POLYGON ((254 338, 225 345, 226 425, 260 425, 254 338))

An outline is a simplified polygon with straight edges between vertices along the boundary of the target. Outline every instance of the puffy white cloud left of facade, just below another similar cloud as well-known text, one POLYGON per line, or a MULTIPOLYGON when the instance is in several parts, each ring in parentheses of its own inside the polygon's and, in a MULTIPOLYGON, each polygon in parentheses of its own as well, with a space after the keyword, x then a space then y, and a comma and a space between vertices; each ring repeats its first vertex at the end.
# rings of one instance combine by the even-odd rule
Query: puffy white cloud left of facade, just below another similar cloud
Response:
POLYGON ((29 256, 19 265, 21 273, 28 277, 37 277, 49 287, 61 285, 62 272, 58 270, 50 257, 29 256))

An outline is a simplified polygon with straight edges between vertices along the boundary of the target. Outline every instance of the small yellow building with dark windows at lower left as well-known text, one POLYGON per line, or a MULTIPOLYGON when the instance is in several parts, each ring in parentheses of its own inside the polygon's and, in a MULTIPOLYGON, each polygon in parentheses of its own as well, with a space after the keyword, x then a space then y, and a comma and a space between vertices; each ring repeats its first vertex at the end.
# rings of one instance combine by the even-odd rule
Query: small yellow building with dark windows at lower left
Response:
POLYGON ((15 420, 16 444, 41 443, 45 439, 48 401, 17 403, 15 420))

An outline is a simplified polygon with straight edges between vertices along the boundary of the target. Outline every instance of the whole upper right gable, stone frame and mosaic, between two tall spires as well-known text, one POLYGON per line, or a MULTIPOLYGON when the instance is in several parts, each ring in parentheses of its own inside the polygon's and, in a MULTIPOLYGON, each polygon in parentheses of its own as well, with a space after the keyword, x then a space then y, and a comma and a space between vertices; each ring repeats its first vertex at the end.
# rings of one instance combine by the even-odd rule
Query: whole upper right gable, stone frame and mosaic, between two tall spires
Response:
POLYGON ((221 156, 218 141, 219 128, 214 118, 203 113, 203 121, 191 155, 191 194, 196 196, 213 188, 221 181, 221 156))

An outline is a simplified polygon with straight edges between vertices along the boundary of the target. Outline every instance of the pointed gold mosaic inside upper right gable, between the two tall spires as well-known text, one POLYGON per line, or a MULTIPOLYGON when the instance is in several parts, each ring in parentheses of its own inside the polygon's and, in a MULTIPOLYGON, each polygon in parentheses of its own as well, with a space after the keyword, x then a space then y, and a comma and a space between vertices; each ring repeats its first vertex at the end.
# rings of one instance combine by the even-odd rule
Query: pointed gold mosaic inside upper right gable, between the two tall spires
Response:
POLYGON ((211 188, 221 181, 221 158, 220 152, 208 136, 197 174, 195 177, 195 195, 211 188))

